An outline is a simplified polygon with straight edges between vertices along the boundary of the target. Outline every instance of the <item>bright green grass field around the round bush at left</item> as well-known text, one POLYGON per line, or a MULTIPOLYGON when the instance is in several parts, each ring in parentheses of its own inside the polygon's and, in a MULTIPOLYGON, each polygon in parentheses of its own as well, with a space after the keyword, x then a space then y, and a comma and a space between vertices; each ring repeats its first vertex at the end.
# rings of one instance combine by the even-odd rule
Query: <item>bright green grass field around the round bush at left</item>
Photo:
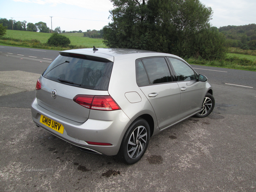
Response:
MULTIPOLYGON (((4 37, 21 39, 21 40, 36 39, 41 43, 46 43, 51 35, 52 35, 51 33, 7 30, 6 35, 4 35, 4 37)), ((70 39, 72 45, 86 46, 86 47, 95 46, 98 48, 106 47, 102 43, 103 39, 93 39, 93 38, 83 37, 84 33, 61 33, 61 35, 67 36, 70 39)))

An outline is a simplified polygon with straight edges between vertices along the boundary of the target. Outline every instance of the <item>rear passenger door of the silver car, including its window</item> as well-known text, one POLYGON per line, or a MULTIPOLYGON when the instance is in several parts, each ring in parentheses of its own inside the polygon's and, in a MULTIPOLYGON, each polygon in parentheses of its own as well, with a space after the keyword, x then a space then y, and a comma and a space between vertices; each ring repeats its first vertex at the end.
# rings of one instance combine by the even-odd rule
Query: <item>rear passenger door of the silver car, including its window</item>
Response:
POLYGON ((177 121, 180 88, 174 81, 165 57, 136 61, 137 84, 154 108, 160 129, 177 121))

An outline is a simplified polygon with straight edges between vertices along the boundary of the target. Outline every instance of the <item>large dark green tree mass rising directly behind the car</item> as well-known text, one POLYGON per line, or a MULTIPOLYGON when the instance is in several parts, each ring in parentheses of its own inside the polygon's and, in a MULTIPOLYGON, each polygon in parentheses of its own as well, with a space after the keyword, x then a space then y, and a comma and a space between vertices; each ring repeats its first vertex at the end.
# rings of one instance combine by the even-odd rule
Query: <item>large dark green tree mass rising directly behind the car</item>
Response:
MULTIPOLYGON (((108 47, 198 56, 193 43, 200 34, 207 35, 208 38, 209 35, 214 37, 221 35, 217 29, 210 28, 212 9, 199 0, 111 0, 111 2, 114 6, 110 11, 112 23, 108 23, 108 26, 103 28, 103 42, 108 47)), ((200 43, 201 46, 204 44, 200 41, 196 43, 200 43)), ((224 46, 224 44, 218 45, 224 46)))

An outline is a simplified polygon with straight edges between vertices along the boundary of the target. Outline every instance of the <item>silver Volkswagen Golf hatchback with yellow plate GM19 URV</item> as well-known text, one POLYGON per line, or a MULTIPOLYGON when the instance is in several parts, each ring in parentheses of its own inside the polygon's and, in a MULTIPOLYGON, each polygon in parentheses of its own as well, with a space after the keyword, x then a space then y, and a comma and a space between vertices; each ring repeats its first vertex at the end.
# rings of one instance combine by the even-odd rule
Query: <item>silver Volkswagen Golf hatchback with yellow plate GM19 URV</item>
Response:
POLYGON ((214 108, 207 78, 175 55, 134 49, 61 51, 36 83, 32 119, 84 151, 136 163, 150 137, 214 108))

